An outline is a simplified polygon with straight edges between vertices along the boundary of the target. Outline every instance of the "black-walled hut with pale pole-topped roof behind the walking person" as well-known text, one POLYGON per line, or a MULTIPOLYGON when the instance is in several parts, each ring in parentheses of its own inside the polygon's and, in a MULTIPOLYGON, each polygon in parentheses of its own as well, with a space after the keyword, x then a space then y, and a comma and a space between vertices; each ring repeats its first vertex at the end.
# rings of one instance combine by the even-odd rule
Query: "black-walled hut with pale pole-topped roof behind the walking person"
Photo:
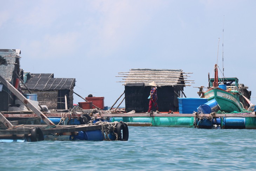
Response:
POLYGON ((157 84, 157 104, 159 111, 178 111, 177 97, 186 97, 183 90, 191 73, 184 73, 181 69, 130 69, 129 72, 119 72, 125 86, 126 112, 147 112, 149 103, 150 82, 157 84))

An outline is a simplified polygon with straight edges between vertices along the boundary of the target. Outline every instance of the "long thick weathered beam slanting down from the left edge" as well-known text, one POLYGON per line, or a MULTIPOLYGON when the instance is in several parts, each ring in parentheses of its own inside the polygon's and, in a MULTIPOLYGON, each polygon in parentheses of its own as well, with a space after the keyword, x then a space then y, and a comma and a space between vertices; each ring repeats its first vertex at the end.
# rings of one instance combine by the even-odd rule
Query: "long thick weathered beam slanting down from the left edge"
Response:
POLYGON ((20 101, 26 106, 29 107, 38 117, 40 117, 47 125, 55 125, 51 120, 49 120, 45 114, 43 114, 40 110, 38 110, 35 106, 33 106, 32 103, 28 101, 27 98, 25 98, 17 89, 13 87, 11 83, 6 81, 1 75, 0 75, 0 81, 2 84, 4 84, 12 93, 20 99, 20 101))

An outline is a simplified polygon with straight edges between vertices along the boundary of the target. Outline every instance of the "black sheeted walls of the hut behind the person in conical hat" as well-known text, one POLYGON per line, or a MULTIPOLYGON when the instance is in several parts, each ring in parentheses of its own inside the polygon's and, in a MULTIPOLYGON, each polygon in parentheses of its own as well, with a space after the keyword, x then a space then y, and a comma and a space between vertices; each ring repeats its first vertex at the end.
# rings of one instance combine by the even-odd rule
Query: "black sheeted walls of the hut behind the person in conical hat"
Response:
MULTIPOLYGON (((147 112, 151 87, 149 86, 125 86, 126 112, 147 112)), ((173 86, 162 86, 157 88, 157 104, 159 111, 177 111, 178 99, 175 96, 173 86)), ((153 106, 153 110, 156 110, 153 106)))

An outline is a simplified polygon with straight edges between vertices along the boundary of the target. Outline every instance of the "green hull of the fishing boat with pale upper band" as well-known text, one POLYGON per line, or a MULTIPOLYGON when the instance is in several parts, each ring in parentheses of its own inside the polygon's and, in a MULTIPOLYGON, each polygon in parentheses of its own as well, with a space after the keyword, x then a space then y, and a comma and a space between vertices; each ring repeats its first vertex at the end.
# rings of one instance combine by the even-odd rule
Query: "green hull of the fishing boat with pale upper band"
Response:
POLYGON ((220 106, 221 111, 227 113, 231 113, 234 111, 241 112, 243 108, 237 94, 232 94, 221 88, 211 88, 210 90, 204 92, 203 97, 207 98, 208 101, 215 99, 218 105, 220 106))

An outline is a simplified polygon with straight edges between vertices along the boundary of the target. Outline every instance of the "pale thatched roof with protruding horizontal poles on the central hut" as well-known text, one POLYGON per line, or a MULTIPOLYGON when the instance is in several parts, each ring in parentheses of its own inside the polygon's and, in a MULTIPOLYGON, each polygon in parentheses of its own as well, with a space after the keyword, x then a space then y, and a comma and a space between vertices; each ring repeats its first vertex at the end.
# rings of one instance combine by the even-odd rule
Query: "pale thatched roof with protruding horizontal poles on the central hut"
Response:
POLYGON ((186 83, 194 83, 194 80, 187 80, 191 73, 184 73, 181 69, 130 69, 129 72, 119 72, 123 77, 124 86, 126 84, 144 83, 145 86, 150 86, 150 82, 155 82, 157 86, 191 86, 186 83), (192 82, 191 82, 192 81, 192 82))

